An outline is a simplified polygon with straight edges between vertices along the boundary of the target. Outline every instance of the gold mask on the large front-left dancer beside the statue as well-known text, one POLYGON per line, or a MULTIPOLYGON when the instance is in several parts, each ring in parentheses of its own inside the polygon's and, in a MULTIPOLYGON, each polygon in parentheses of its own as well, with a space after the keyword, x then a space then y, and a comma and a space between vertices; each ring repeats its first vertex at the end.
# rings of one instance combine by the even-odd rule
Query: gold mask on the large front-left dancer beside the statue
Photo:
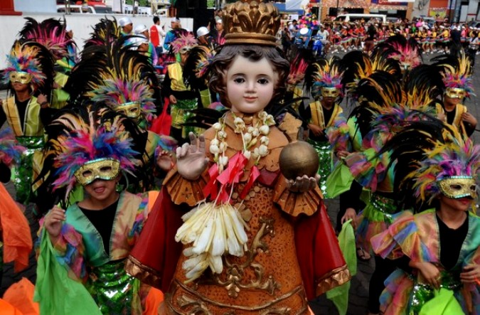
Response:
POLYGON ((120 162, 115 159, 96 159, 83 164, 75 171, 75 178, 82 186, 87 186, 96 179, 110 181, 116 178, 120 171, 120 162))

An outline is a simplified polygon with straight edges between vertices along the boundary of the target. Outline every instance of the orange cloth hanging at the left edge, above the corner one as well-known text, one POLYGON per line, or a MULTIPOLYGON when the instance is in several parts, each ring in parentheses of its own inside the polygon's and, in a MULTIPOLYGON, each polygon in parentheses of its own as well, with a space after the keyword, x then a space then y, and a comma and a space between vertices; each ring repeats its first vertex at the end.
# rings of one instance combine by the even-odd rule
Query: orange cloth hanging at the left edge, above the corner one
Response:
POLYGON ((15 272, 28 266, 33 242, 30 226, 11 198, 4 185, 0 184, 0 225, 4 241, 4 262, 15 262, 15 272))

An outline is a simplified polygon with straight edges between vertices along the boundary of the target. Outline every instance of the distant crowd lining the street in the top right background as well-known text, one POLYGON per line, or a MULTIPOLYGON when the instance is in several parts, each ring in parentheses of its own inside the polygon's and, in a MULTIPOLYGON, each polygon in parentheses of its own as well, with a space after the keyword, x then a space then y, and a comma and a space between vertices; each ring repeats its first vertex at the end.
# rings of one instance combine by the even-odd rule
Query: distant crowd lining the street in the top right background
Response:
MULTIPOLYGON (((280 37, 282 45, 294 44, 295 38, 302 38, 302 28, 314 30, 312 35, 319 34, 324 44, 324 53, 345 53, 350 50, 370 52, 373 45, 382 43, 390 36, 402 35, 405 38, 415 38, 420 43, 422 53, 449 53, 451 49, 464 48, 468 53, 479 53, 479 29, 469 27, 468 23, 447 23, 437 21, 429 24, 418 18, 417 21, 402 21, 384 23, 375 18, 369 21, 363 19, 355 22, 329 20, 314 26, 300 25, 297 20, 289 21, 282 28, 280 37), (330 49, 331 48, 331 49, 330 49)), ((472 58, 474 60, 474 58, 472 58)))

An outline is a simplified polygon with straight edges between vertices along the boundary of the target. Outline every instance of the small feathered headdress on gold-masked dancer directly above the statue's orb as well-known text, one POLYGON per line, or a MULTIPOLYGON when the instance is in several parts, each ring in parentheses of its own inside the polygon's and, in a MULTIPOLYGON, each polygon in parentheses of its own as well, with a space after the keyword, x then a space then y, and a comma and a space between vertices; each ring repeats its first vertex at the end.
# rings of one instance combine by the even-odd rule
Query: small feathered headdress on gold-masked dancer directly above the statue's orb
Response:
POLYGON ((343 84, 341 82, 343 73, 341 72, 340 58, 331 58, 330 60, 321 58, 316 60, 313 67, 311 95, 319 97, 323 87, 334 87, 343 97, 343 84))

